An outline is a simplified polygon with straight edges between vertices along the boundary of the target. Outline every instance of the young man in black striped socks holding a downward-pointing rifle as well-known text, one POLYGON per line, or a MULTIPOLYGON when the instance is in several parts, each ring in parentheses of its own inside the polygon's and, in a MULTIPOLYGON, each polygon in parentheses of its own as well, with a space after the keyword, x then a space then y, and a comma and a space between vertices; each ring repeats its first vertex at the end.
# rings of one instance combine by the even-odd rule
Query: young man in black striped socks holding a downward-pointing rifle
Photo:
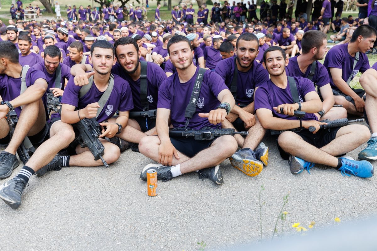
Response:
POLYGON ((101 126, 106 126, 106 130, 103 129, 99 136, 105 148, 103 158, 108 164, 119 158, 119 148, 106 141, 104 137, 112 138, 116 133, 120 133, 122 127, 127 125, 129 110, 133 109, 131 90, 127 81, 116 75, 113 77, 110 75, 111 67, 116 61, 112 44, 107 41, 95 42, 91 48, 89 60, 94 68, 94 72, 91 74, 93 84, 90 89, 79 97, 82 87, 76 86, 73 78, 70 78, 61 100, 61 118, 59 113, 52 114, 50 139, 38 147, 15 178, 0 186, 0 198, 11 208, 17 209, 20 206, 23 190, 34 173, 37 173, 37 176, 42 176, 46 171, 60 170, 61 167, 102 165, 100 159, 94 160, 87 147, 81 148, 80 145, 75 147, 77 155, 56 155, 61 149, 68 147, 74 141, 75 132, 71 124, 77 123, 81 119, 97 118, 97 121, 101 122, 101 126), (101 107, 103 108, 101 112, 97 114, 100 108, 98 101, 107 88, 112 86, 112 81, 113 89, 110 96, 104 107, 101 107), (113 117, 116 110, 119 110, 119 116, 113 117), (109 122, 104 122, 106 120, 109 122))

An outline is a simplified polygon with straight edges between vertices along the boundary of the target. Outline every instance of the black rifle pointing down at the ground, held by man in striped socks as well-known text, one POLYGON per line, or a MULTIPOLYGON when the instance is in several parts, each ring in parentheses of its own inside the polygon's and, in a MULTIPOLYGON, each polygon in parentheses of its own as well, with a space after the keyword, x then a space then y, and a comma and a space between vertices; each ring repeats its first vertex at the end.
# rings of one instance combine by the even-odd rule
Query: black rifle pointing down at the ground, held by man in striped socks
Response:
POLYGON ((94 156, 94 160, 101 159, 105 167, 109 167, 103 159, 105 147, 101 143, 98 136, 101 135, 101 126, 98 124, 96 118, 84 118, 79 122, 73 124, 73 127, 78 131, 78 136, 74 142, 78 142, 81 148, 87 147, 94 156))

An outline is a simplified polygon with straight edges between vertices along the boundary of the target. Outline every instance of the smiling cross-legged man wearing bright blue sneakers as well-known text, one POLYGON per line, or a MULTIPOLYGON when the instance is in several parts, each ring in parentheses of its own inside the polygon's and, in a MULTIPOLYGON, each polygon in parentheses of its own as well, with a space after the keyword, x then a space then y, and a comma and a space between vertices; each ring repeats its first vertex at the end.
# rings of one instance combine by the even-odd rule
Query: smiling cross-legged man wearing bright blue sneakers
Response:
POLYGON ((313 163, 318 163, 335 167, 343 175, 372 177, 373 166, 368 161, 356 161, 349 156, 334 157, 344 155, 366 142, 370 136, 369 129, 363 125, 320 129, 320 125, 326 123, 318 122, 314 115, 322 110, 322 102, 313 83, 307 78, 287 77, 285 66, 288 59, 280 47, 268 48, 263 58, 263 65, 271 79, 257 90, 255 109, 265 129, 287 130, 280 134, 278 145, 282 156, 290 155, 291 173, 300 173, 304 168, 309 171, 313 163), (295 110, 306 112, 302 120, 293 116, 295 110), (311 126, 315 127, 314 132, 305 130, 311 126), (299 127, 305 129, 290 131, 299 127))

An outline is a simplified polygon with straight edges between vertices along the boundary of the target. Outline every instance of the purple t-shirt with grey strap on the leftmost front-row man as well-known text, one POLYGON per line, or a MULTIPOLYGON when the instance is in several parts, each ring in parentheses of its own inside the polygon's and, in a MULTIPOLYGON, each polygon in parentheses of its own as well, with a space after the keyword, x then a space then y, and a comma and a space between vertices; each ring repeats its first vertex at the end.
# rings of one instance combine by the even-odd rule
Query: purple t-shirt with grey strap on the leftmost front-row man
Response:
MULTIPOLYGON (((38 78, 46 80, 46 76, 40 70, 30 68, 26 73, 26 86, 29 87, 35 83, 38 78)), ((11 101, 18 96, 21 92, 21 78, 12 78, 5 74, 0 74, 0 96, 3 100, 11 101)), ((46 94, 42 97, 43 103, 46 105, 46 94)), ((17 116, 20 116, 21 107, 14 109, 17 116)))

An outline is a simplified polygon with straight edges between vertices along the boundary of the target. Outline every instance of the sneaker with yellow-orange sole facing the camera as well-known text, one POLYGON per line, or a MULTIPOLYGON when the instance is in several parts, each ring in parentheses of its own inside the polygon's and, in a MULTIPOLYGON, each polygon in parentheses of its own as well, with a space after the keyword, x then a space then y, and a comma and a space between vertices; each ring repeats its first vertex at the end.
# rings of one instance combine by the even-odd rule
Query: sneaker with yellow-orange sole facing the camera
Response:
POLYGON ((253 150, 239 150, 229 160, 234 168, 247 176, 257 176, 263 170, 263 163, 255 158, 253 150))

